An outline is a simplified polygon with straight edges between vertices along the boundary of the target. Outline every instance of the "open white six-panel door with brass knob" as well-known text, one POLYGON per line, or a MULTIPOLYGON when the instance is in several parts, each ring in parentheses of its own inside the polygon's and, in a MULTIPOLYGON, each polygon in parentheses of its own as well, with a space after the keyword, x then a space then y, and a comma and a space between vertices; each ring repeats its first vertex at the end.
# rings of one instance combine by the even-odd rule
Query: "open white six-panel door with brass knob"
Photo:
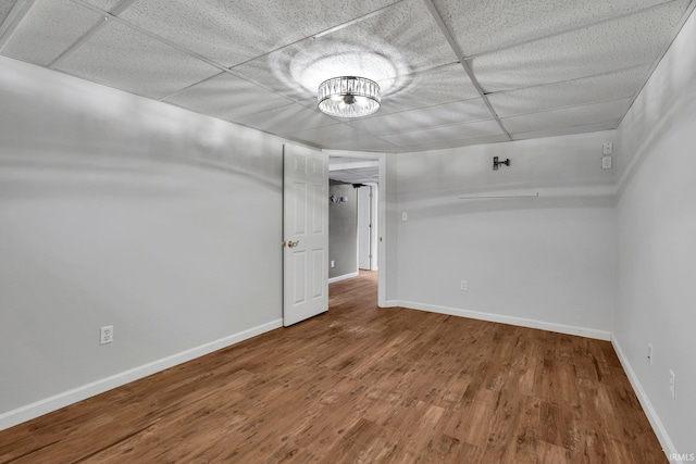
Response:
POLYGON ((285 145, 283 325, 328 310, 328 154, 285 145))

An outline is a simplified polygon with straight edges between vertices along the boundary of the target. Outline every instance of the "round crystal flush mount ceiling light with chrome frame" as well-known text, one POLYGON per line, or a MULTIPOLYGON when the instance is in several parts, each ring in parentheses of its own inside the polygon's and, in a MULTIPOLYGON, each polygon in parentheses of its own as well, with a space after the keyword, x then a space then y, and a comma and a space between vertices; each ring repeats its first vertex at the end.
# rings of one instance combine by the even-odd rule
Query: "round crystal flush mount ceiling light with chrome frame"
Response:
POLYGON ((364 77, 341 76, 319 85, 319 110, 330 116, 361 117, 380 109, 380 85, 364 77))

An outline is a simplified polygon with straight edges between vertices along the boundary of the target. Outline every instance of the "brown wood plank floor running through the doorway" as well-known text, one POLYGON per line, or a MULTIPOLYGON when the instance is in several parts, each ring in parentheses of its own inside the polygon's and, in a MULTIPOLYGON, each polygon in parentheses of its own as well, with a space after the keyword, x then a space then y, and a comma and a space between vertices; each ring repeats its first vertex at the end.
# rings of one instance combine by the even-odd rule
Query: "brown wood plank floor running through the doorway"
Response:
POLYGON ((609 342, 330 311, 0 431, 0 463, 662 463, 609 342))

